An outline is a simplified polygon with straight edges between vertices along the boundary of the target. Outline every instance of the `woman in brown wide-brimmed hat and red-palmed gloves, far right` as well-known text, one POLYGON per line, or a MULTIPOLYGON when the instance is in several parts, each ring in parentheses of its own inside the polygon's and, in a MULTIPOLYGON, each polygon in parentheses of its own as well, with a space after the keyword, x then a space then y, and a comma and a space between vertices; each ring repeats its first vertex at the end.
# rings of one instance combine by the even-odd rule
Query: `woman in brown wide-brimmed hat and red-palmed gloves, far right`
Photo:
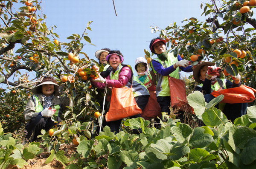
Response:
MULTIPOLYGON (((204 94, 204 99, 207 103, 215 98, 215 96, 211 95, 213 90, 217 91, 218 89, 228 89, 241 85, 241 76, 239 74, 232 76, 234 80, 232 83, 227 79, 219 79, 222 74, 221 71, 221 68, 216 67, 215 63, 212 62, 203 62, 193 71, 194 79, 199 84, 195 87, 195 90, 204 94)), ((247 103, 220 103, 215 107, 222 110, 229 120, 234 121, 246 113, 247 103)))

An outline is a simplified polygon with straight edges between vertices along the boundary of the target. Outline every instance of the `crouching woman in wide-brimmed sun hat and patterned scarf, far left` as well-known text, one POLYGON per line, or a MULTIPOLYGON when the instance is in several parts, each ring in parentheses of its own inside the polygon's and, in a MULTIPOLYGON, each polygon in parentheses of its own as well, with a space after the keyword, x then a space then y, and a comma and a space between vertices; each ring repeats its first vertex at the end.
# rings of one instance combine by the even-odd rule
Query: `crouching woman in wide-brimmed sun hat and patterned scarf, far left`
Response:
POLYGON ((48 131, 54 126, 55 122, 51 119, 53 115, 56 115, 57 121, 60 122, 61 113, 67 109, 66 106, 70 106, 69 98, 60 97, 58 89, 53 77, 44 77, 32 88, 33 96, 29 99, 24 112, 25 120, 28 122, 28 141, 37 140, 42 129, 48 131))

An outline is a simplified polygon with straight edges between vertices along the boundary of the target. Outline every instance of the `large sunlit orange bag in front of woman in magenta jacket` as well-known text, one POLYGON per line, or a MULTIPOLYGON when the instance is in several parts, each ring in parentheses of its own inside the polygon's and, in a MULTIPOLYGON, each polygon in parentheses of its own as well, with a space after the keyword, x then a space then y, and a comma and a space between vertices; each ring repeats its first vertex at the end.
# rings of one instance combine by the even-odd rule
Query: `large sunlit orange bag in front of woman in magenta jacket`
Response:
POLYGON ((109 110, 105 116, 106 121, 116 121, 132 115, 141 114, 131 88, 112 88, 109 110))

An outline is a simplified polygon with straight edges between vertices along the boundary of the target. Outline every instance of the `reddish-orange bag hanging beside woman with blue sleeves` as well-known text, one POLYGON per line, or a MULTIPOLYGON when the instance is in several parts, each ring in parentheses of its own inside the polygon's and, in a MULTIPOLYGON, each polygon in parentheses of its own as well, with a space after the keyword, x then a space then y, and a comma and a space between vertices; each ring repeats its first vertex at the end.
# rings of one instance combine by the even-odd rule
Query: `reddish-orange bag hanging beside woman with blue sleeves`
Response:
POLYGON ((189 105, 186 98, 186 84, 181 79, 169 76, 169 87, 172 108, 180 109, 185 112, 193 113, 193 108, 189 105))

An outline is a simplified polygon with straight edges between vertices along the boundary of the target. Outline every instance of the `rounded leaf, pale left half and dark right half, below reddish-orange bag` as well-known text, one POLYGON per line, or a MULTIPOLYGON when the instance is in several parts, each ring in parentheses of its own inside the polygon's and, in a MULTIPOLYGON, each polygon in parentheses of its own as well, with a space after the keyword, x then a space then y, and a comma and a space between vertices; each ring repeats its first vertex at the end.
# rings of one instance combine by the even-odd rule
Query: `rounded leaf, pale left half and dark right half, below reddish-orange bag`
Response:
MULTIPOLYGON (((172 127, 172 133, 177 141, 183 143, 191 134, 192 128, 187 124, 181 123, 178 127, 172 127)), ((188 138, 189 139, 189 138, 188 138)))

